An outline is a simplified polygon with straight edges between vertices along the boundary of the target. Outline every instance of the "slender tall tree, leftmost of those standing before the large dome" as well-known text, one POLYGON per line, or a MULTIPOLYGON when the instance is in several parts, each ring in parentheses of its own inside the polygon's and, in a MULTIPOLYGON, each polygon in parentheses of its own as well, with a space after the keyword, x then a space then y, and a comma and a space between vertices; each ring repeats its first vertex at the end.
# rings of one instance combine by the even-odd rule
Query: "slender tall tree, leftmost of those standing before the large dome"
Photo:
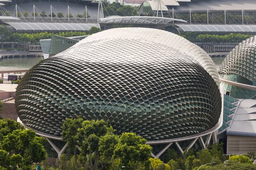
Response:
POLYGON ((74 151, 76 170, 78 170, 77 165, 77 145, 79 144, 78 129, 82 126, 83 119, 66 119, 62 125, 62 138, 67 142, 67 147, 74 151))

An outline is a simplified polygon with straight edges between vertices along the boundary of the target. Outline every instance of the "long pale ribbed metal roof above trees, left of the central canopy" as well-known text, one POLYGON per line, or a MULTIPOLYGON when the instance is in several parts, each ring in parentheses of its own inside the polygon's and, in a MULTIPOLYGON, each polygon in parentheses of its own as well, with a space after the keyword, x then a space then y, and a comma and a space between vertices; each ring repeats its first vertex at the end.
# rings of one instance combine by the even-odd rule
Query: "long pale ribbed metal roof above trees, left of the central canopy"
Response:
POLYGON ((15 23, 6 22, 17 31, 89 31, 91 27, 100 28, 98 23, 15 23))

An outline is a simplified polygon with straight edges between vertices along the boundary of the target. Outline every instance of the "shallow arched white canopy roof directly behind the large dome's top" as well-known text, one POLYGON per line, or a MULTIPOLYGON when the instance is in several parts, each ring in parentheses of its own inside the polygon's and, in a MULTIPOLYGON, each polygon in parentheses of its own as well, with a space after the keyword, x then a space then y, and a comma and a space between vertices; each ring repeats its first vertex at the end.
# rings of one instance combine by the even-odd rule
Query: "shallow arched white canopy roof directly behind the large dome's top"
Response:
POLYGON ((132 24, 157 24, 157 23, 169 23, 171 21, 179 21, 187 23, 185 20, 177 20, 173 18, 165 17, 147 17, 147 16, 133 16, 133 17, 107 17, 100 18, 99 23, 132 23, 132 24))

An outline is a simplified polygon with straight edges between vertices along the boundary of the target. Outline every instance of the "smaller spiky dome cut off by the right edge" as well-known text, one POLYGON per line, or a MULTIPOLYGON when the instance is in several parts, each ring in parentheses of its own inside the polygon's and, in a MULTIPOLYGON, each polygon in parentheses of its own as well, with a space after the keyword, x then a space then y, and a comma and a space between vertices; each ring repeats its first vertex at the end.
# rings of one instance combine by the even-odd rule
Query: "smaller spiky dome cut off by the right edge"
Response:
POLYGON ((239 43, 224 59, 220 76, 247 85, 256 85, 256 36, 239 43))

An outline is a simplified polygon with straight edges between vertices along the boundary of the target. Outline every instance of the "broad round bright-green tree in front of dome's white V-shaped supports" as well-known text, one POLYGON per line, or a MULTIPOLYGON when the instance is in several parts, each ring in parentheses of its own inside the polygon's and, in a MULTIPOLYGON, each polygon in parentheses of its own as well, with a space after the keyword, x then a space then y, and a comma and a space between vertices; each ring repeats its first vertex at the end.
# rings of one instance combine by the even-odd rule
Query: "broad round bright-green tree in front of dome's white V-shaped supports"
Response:
POLYGON ((136 170, 139 163, 144 163, 151 156, 152 147, 145 143, 146 139, 135 133, 123 133, 115 146, 113 157, 120 160, 121 166, 131 164, 136 170))

